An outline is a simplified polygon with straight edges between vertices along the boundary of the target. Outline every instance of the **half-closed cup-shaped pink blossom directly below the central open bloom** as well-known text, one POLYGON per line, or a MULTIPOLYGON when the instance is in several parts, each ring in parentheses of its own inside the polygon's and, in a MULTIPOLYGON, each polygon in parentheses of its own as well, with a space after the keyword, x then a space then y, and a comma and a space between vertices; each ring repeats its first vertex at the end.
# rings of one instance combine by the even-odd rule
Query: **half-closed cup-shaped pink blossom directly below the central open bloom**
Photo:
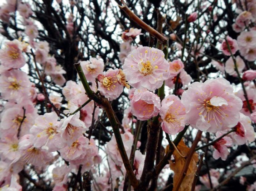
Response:
POLYGON ((157 116, 161 107, 160 98, 150 91, 135 95, 132 98, 130 105, 132 114, 142 121, 157 116))

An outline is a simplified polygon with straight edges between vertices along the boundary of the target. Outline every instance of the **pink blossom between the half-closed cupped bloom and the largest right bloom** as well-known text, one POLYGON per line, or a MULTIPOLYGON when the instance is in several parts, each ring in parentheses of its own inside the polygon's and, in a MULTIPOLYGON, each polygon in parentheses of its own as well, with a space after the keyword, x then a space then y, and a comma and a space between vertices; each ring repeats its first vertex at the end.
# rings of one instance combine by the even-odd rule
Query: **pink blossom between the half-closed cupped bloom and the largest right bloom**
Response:
POLYGON ((163 120, 161 126, 164 132, 175 135, 184 129, 186 111, 177 96, 169 95, 164 98, 159 114, 163 120))

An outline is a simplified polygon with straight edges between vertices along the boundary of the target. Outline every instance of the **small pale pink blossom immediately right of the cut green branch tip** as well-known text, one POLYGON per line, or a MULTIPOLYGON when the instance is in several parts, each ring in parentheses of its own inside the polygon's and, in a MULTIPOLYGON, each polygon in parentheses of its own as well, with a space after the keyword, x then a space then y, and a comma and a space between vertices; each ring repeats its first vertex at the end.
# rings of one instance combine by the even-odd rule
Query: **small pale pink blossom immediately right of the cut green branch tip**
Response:
POLYGON ((80 64, 86 79, 90 82, 95 81, 98 75, 103 74, 104 62, 102 59, 90 58, 89 61, 81 61, 80 64))

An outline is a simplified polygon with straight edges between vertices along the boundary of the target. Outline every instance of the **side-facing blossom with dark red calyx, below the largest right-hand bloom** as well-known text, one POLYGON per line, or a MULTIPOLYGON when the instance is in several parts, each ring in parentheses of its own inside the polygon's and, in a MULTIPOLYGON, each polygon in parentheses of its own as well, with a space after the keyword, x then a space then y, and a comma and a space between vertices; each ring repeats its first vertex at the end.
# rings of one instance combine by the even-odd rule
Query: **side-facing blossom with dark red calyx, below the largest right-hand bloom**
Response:
MULTIPOLYGON (((225 133, 224 131, 218 131, 216 133, 216 138, 220 137, 224 133, 225 133)), ((232 144, 233 144, 232 139, 230 137, 227 137, 227 136, 225 136, 222 139, 215 142, 213 144, 213 147, 216 150, 213 151, 213 158, 216 159, 216 160, 218 158, 221 158, 222 160, 226 160, 227 155, 229 154, 227 147, 232 146, 232 144)))

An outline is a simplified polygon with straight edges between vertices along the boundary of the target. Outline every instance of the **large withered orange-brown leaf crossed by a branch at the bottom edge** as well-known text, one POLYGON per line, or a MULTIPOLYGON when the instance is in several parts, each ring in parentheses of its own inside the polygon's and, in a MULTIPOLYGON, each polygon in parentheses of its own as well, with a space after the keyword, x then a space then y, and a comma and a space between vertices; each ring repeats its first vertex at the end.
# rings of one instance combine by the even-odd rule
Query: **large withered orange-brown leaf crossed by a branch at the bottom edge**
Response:
MULTIPOLYGON (((177 146, 179 153, 183 156, 187 156, 189 148, 185 145, 184 141, 181 140, 177 146)), ((176 150, 174 150, 174 161, 169 161, 171 170, 174 171, 174 190, 175 184, 177 184, 182 168, 185 164, 185 158, 181 156, 176 150)), ((197 170, 198 154, 194 153, 188 166, 188 171, 179 187, 179 191, 190 191, 194 179, 195 172, 197 170)))

